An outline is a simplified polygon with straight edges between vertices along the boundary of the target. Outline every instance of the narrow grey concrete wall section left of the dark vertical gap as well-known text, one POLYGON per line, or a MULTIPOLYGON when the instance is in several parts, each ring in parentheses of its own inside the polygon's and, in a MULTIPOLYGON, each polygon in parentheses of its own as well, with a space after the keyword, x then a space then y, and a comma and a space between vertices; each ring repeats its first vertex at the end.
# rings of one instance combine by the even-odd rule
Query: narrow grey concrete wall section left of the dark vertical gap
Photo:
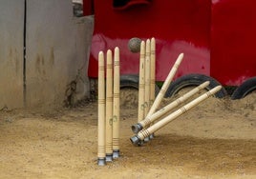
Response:
POLYGON ((0 1, 0 109, 23 106, 23 20, 23 1, 0 1))

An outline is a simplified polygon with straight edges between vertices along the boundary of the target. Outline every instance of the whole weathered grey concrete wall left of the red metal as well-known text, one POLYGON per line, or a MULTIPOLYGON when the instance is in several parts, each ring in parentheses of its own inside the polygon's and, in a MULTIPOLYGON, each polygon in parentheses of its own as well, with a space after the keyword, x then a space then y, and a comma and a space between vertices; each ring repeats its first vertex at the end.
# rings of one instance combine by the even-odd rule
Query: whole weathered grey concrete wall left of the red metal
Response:
MULTIPOLYGON (((12 86, 15 88, 8 86, 7 90, 0 89, 0 95, 6 96, 5 103, 0 101, 0 109, 3 105, 7 105, 9 108, 23 106, 24 11, 22 9, 24 9, 24 1, 11 0, 11 2, 15 2, 12 4, 13 7, 23 7, 20 8, 18 18, 16 15, 11 16, 11 20, 15 22, 13 33, 17 32, 20 35, 18 38, 11 37, 11 34, 5 35, 7 41, 11 42, 10 48, 5 50, 5 54, 0 55, 1 67, 4 63, 3 59, 7 58, 7 62, 4 63, 7 70, 4 73, 2 70, 0 71, 0 79, 2 81, 7 78, 3 78, 3 74, 8 75, 9 78, 11 76, 12 86), (11 96, 9 91, 14 89, 15 91, 12 93, 18 97, 13 101, 8 96, 11 96)), ((11 11, 10 6, 2 8, 4 7, 2 4, 0 2, 0 13, 2 13, 1 9, 11 11)), ((7 19, 10 17, 3 20, 7 19)), ((74 17, 71 0, 27 0, 26 95, 24 100, 27 107, 63 105, 64 100, 71 94, 73 100, 89 96, 87 68, 93 22, 92 17, 74 17), (75 91, 70 90, 69 84, 72 81, 77 82, 75 91)), ((2 28, 0 26, 1 31, 10 33, 8 31, 10 28, 2 28)), ((2 47, 2 42, 0 44, 2 47)), ((8 84, 8 80, 5 81, 8 84)))

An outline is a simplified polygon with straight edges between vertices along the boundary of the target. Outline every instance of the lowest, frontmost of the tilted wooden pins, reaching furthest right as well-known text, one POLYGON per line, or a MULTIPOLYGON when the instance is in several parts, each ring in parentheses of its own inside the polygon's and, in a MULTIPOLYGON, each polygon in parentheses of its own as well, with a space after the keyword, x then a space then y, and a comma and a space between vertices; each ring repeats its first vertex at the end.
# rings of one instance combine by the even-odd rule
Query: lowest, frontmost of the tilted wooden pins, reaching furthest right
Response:
POLYGON ((198 98, 194 99, 190 103, 186 104, 185 106, 181 107, 180 109, 177 109, 173 113, 164 117, 163 119, 161 119, 159 122, 155 123, 153 126, 149 127, 148 129, 140 130, 137 135, 130 138, 131 142, 135 146, 139 146, 142 143, 142 141, 144 140, 144 138, 150 136, 155 131, 161 129, 162 127, 164 127, 165 125, 167 125, 168 123, 173 121, 174 119, 178 118, 179 116, 181 116, 181 114, 183 114, 187 110, 192 109, 193 107, 197 106, 198 104, 203 102, 205 99, 214 95, 220 89, 222 89, 222 86, 215 87, 214 89, 211 89, 211 90, 203 93, 203 95, 199 96, 198 98))

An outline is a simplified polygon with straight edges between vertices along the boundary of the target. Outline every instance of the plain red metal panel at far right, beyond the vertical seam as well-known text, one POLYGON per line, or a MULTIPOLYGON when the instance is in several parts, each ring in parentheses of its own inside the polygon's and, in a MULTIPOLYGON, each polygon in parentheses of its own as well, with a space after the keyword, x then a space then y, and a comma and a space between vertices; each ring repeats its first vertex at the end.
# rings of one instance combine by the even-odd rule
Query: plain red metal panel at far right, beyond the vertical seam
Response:
POLYGON ((256 76, 256 1, 212 2, 211 75, 238 86, 256 76))

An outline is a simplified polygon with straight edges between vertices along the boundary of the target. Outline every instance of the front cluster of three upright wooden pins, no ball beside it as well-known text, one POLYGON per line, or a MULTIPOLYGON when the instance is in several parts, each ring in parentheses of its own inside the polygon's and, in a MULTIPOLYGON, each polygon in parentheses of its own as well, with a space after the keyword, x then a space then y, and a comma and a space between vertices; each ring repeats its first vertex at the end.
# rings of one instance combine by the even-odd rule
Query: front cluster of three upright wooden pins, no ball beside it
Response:
POLYGON ((98 53, 97 165, 119 157, 119 49, 98 53), (106 64, 106 67, 105 67, 106 64), (106 75, 106 77, 105 77, 106 75))

